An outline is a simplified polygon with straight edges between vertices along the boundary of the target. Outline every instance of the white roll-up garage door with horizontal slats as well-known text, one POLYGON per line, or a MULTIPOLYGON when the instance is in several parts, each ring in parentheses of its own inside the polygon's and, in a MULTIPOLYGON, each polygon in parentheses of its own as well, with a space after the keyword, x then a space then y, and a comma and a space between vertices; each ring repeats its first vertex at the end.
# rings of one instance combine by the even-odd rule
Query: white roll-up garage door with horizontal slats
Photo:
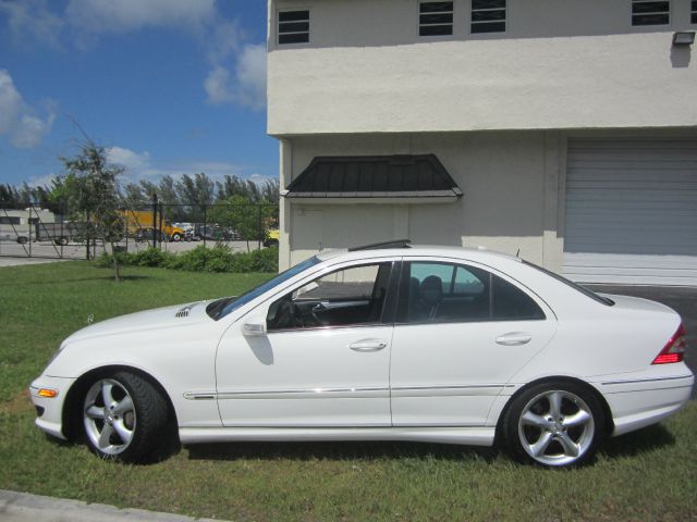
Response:
POLYGON ((564 275, 697 286, 697 138, 568 141, 564 275))

